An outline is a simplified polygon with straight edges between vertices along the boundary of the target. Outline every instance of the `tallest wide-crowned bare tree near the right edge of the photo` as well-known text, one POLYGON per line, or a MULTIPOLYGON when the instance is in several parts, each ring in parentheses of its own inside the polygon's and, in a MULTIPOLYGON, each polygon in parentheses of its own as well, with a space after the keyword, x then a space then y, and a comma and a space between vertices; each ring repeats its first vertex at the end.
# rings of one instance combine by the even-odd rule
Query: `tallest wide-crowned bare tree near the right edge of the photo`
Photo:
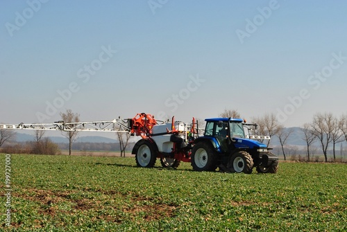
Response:
POLYGON ((331 113, 316 113, 313 116, 312 133, 321 142, 325 162, 328 162, 327 150, 332 142, 332 131, 334 130, 334 117, 331 113))

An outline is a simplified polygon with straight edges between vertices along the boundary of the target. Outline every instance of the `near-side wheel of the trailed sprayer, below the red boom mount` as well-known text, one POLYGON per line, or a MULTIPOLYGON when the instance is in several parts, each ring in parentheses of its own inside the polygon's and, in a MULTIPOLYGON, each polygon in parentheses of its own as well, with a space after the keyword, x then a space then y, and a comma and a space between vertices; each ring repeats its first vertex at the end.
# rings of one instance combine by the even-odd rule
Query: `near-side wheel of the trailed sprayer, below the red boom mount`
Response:
POLYGON ((135 154, 136 164, 142 168, 153 168, 157 160, 157 152, 153 143, 146 139, 137 142, 137 152, 135 154))

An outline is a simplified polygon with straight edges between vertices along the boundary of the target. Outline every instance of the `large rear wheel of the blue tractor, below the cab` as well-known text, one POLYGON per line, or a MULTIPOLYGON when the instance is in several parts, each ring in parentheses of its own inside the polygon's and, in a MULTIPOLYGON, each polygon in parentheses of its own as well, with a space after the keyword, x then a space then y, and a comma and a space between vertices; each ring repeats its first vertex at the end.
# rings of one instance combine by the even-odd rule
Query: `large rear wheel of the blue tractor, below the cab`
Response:
POLYGON ((200 142, 192 150, 192 166, 199 172, 216 170, 216 152, 212 145, 200 142))

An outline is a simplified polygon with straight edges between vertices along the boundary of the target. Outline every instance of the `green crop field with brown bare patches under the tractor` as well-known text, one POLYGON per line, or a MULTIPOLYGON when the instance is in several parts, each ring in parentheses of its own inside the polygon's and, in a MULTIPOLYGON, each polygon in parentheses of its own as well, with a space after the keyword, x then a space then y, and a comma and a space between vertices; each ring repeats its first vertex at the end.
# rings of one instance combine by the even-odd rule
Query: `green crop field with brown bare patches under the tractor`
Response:
MULTIPOLYGON (((5 170, 5 154, 0 155, 5 170)), ((275 175, 137 168, 135 158, 10 157, 5 231, 347 231, 347 166, 280 163, 275 175)))

